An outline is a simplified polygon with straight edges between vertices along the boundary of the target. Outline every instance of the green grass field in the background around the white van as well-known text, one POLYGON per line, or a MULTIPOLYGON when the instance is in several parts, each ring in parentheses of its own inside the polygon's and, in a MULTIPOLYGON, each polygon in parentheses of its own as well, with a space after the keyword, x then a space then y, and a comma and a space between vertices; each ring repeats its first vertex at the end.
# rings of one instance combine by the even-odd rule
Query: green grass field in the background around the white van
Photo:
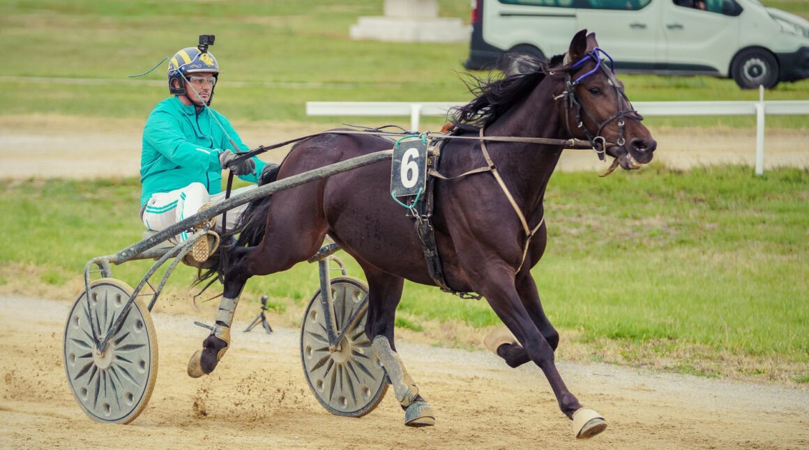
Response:
MULTIPOLYGON (((468 2, 443 0, 441 15, 468 21, 468 2)), ((765 2, 770 4, 770 2, 765 2)), ((772 2, 809 15, 806 2, 772 2)), ((462 82, 468 44, 395 44, 349 40, 360 15, 382 14, 382 2, 73 2, 11 1, 0 4, 0 115, 61 114, 145 118, 166 95, 166 65, 129 79, 196 44, 197 34, 218 36, 222 64, 216 107, 244 120, 307 117, 306 101, 470 99, 462 82), (42 79, 44 78, 44 79, 42 79), (92 84, 76 84, 90 78, 92 84), (236 85, 236 83, 246 83, 236 85)), ((635 101, 752 100, 732 80, 710 77, 624 75, 635 101)), ((807 99, 809 80, 781 83, 767 99, 807 99)), ((655 118, 654 125, 751 127, 753 117, 655 118)), ((379 118, 357 118, 376 124, 379 118)), ((426 124, 438 125, 440 120, 426 124)), ((773 116, 768 127, 809 128, 801 116, 773 116)))

